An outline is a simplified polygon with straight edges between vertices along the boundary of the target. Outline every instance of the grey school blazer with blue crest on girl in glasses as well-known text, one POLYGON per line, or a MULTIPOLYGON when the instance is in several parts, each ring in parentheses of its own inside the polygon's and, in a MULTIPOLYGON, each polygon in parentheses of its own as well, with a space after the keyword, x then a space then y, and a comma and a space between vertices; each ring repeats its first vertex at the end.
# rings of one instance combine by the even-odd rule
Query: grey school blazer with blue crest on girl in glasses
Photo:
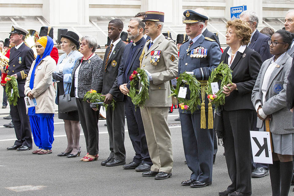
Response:
MULTIPOLYGON (((262 103, 262 82, 267 68, 271 64, 272 58, 262 63, 256 83, 254 85, 251 100, 255 104, 262 103)), ((270 78, 266 93, 266 102, 262 103, 262 110, 266 115, 271 116, 269 129, 274 134, 294 133, 292 126, 292 112, 286 107, 286 87, 288 74, 292 66, 292 58, 286 53, 275 67, 270 78)), ((257 118, 257 128, 262 128, 263 121, 257 118)))

